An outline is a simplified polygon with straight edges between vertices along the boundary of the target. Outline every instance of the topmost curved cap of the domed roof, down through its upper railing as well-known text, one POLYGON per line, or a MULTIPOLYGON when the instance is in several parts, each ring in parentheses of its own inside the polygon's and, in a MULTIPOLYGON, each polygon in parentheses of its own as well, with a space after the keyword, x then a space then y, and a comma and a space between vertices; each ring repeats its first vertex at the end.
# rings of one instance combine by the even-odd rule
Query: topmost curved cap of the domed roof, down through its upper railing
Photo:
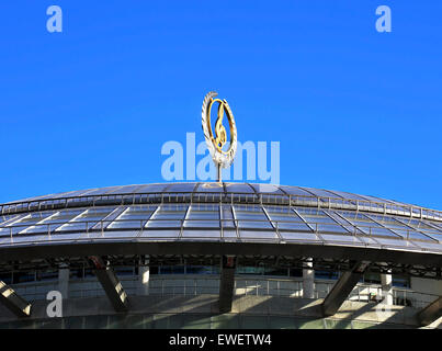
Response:
POLYGON ((254 184, 181 182, 120 185, 36 196, 0 204, 0 213, 150 203, 246 203, 350 210, 442 222, 442 212, 392 200, 322 189, 254 184))

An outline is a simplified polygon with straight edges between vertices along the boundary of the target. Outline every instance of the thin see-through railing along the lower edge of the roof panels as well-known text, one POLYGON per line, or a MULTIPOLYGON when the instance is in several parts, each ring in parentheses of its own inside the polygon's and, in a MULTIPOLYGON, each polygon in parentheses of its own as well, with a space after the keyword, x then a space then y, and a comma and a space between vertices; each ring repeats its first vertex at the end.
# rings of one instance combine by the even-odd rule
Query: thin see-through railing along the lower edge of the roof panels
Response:
MULTIPOLYGON (((102 220, 75 220, 66 223, 49 223, 49 224, 12 224, 0 228, 0 246, 25 244, 25 242, 59 242, 71 241, 80 242, 81 240, 90 239, 115 239, 115 233, 121 234, 126 231, 124 238, 133 239, 149 239, 149 240, 238 240, 238 241, 258 241, 258 242, 311 242, 321 245, 344 245, 344 246, 364 246, 379 248, 407 248, 418 249, 421 251, 442 251, 442 245, 438 248, 441 241, 428 237, 428 240, 412 239, 410 236, 417 233, 418 229, 397 229, 406 235, 396 234, 395 229, 382 228, 379 226, 363 226, 339 223, 315 223, 306 224, 305 230, 281 229, 287 224, 303 224, 302 222, 291 220, 268 220, 268 219, 102 219, 102 220), (209 223, 211 225, 206 225, 209 223), (175 225, 173 225, 175 224, 175 225), (192 226, 192 224, 194 224, 192 226), (205 224, 205 226, 202 226, 205 224), (253 225, 254 224, 254 225, 253 225), (262 225, 261 225, 262 224, 262 225), (325 228, 324 228, 325 227, 325 228), (336 228, 337 230, 332 230, 336 228), (377 231, 381 229, 388 235, 381 235, 377 231), (161 235, 165 230, 175 230, 173 235, 161 235), (253 231, 257 235, 247 236, 242 231, 253 231), (311 238, 299 237, 291 238, 290 234, 313 234, 311 238), (72 237, 71 234, 78 234, 72 237), (396 235, 396 236, 395 236, 396 235), (353 240, 349 240, 349 238, 353 240), (376 238, 393 239, 388 245, 382 241, 377 244, 367 244, 364 238, 371 238, 376 242, 376 238), (395 241, 395 242, 392 242, 395 241), (397 242, 397 244, 396 244, 397 242), (431 242, 433 247, 430 249, 420 247, 419 242, 431 242)), ((442 237, 441 231, 428 231, 435 237, 442 237)), ((424 236, 424 235, 423 235, 424 236)), ((121 236, 117 236, 121 238, 121 236)))

